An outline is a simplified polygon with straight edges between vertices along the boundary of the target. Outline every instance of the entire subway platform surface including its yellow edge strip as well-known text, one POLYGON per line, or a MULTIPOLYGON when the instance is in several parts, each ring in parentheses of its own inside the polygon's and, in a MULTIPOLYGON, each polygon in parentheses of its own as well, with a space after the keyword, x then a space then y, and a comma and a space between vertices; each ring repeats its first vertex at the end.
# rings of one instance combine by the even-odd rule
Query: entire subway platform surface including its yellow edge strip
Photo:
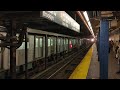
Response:
MULTIPOLYGON (((120 79, 118 71, 119 64, 115 59, 115 53, 111 50, 108 61, 108 79, 120 79)), ((98 61, 96 44, 92 45, 69 79, 100 79, 100 62, 98 61)))

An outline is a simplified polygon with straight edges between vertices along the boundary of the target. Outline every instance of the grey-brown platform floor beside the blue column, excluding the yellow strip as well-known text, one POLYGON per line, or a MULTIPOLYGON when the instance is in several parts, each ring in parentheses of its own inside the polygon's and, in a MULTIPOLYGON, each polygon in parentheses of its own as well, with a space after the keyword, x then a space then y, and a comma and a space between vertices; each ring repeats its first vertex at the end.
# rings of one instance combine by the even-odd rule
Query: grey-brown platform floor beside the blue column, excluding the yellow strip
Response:
MULTIPOLYGON (((91 58, 90 67, 88 70, 87 79, 99 79, 100 78, 100 67, 99 67, 98 55, 96 45, 93 45, 93 55, 91 58)), ((115 59, 115 53, 111 50, 109 53, 108 61, 108 79, 120 79, 120 74, 116 72, 119 71, 119 64, 115 59)))

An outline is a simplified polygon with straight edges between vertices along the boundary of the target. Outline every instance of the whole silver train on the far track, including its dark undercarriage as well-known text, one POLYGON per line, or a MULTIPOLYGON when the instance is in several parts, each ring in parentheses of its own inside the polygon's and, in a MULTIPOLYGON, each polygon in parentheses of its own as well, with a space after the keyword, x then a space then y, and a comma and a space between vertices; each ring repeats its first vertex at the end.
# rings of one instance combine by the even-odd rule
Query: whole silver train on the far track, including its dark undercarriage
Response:
MULTIPOLYGON (((86 42, 84 39, 32 28, 27 28, 27 32, 28 70, 37 66, 39 70, 44 70, 86 42)), ((10 68, 10 50, 7 48, 0 53, 0 68, 5 71, 10 68)), ((16 50, 16 71, 25 71, 25 42, 16 50)))

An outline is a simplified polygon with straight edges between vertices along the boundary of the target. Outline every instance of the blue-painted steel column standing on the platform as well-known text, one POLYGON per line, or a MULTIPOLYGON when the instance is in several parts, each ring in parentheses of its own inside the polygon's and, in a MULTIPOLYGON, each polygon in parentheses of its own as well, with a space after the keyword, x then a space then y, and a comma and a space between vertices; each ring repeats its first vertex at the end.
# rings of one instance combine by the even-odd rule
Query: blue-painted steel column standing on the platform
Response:
POLYGON ((107 20, 100 21, 99 59, 100 79, 108 79, 108 50, 109 50, 109 23, 107 20))

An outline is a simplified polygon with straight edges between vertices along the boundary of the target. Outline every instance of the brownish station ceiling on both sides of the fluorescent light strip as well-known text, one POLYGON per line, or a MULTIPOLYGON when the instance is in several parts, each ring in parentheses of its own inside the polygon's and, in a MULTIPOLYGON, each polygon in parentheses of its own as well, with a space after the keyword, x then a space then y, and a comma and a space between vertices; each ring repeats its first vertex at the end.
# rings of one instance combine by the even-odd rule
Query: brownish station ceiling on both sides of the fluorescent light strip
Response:
MULTIPOLYGON (((81 33, 83 36, 91 36, 89 30, 86 28, 83 21, 76 14, 75 11, 66 11, 71 17, 73 17, 81 25, 81 33)), ((100 29, 100 16, 107 16, 108 21, 110 22, 109 31, 112 32, 120 28, 120 11, 87 11, 93 32, 95 35, 99 32, 100 29), (117 22, 116 25, 113 25, 112 21, 117 22)))

